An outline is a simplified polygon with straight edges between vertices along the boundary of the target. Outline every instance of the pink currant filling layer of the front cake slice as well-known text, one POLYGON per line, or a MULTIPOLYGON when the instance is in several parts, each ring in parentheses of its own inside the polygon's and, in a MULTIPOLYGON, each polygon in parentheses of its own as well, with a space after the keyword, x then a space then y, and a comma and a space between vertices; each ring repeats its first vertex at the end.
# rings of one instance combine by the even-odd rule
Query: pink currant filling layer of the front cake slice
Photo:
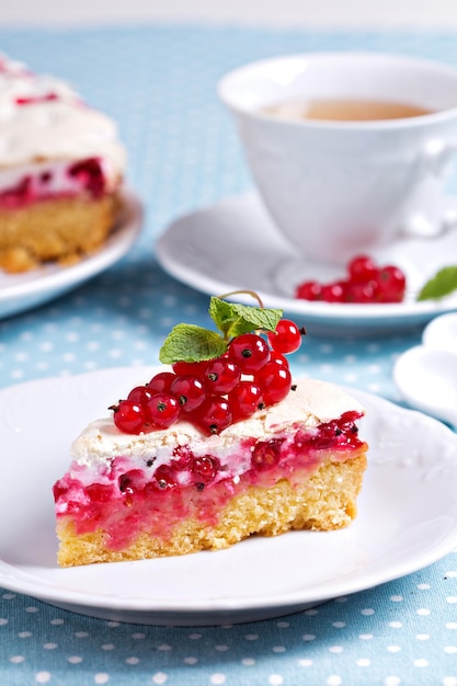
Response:
POLYGON ((346 412, 315 428, 300 425, 269 439, 244 438, 224 459, 179 446, 159 466, 153 457, 138 467, 138 460, 118 456, 94 473, 73 462, 54 485, 56 514, 70 518, 78 535, 102 529, 113 550, 142 531, 168 539, 183 518, 215 525, 225 505, 249 487, 271 488, 279 479, 296 485, 329 450, 333 459, 350 458, 364 446, 355 425, 359 416, 346 412))

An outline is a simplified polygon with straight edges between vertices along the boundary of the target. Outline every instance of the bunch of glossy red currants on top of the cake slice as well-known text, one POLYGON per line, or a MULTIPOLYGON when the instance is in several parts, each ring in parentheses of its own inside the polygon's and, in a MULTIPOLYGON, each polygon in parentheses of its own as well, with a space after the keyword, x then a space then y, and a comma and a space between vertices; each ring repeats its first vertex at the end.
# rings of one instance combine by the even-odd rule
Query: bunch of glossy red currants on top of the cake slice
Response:
POLYGON ((113 405, 119 431, 139 434, 186 420, 205 435, 218 434, 256 410, 283 400, 292 388, 286 354, 301 343, 304 329, 281 319, 266 335, 242 333, 219 357, 176 362, 113 405))

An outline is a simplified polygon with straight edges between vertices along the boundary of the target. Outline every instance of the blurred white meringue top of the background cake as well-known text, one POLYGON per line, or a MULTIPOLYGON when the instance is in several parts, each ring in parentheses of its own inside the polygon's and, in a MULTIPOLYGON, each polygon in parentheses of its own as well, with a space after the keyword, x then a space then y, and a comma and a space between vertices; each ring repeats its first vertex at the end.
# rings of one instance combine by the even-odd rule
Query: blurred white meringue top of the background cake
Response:
POLYGON ((0 169, 90 157, 106 160, 107 173, 122 176, 126 156, 115 123, 88 107, 66 82, 0 55, 0 169))

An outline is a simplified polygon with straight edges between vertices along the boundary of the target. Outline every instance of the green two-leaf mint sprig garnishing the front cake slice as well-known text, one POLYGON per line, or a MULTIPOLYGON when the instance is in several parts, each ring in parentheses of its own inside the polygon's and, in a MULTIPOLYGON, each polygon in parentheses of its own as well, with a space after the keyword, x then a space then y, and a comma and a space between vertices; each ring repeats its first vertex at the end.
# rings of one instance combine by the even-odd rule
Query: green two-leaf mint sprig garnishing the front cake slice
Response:
POLYGON ((222 355, 231 339, 251 331, 274 331, 283 316, 282 310, 227 302, 213 297, 209 316, 220 333, 195 324, 178 324, 159 352, 162 364, 202 362, 222 355))

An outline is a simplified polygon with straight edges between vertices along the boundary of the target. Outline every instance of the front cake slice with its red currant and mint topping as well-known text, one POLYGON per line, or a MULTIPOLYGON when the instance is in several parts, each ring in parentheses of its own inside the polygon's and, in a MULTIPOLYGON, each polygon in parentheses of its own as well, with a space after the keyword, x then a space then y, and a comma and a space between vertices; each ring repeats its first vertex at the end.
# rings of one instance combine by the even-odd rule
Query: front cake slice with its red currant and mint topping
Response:
POLYGON ((355 517, 363 408, 332 384, 293 382, 284 355, 302 331, 281 312, 218 298, 210 312, 222 336, 173 329, 160 355, 171 366, 72 444, 54 485, 60 565, 215 550, 355 517))

